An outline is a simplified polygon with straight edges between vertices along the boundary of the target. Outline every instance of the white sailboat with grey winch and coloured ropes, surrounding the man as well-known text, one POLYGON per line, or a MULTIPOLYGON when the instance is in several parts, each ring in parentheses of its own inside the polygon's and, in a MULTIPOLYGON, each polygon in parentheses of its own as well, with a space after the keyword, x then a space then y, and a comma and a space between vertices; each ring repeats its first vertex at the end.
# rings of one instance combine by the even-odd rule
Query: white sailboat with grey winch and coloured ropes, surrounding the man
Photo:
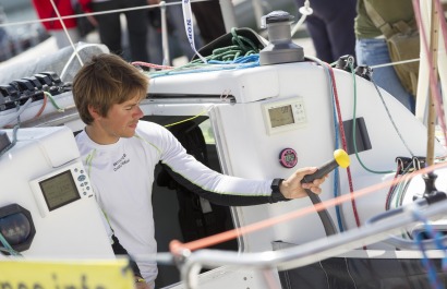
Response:
MULTIPOLYGON (((443 288, 445 146, 433 140, 427 156, 428 125, 377 87, 367 69, 353 68, 352 57, 333 68, 306 56, 291 41, 289 13, 274 11, 263 21, 268 40, 234 28, 190 65, 142 72, 150 82, 143 119, 179 140, 194 137, 206 165, 227 174, 286 178, 294 168, 323 165, 323 193, 222 208, 170 189, 158 168, 160 253, 132 257, 158 263, 157 288, 443 288), (198 65, 234 38, 257 52, 240 48, 243 61, 208 58, 198 65)), ((0 266, 15 262, 13 252, 39 260, 37 266, 41 258, 114 260, 78 159, 73 135, 84 123, 70 87, 80 62, 108 49, 77 44, 75 51, 11 72, 13 85, 0 86, 0 228, 10 242, 0 266), (22 234, 12 233, 19 227, 22 234)), ((65 287, 87 284, 52 278, 65 287)))

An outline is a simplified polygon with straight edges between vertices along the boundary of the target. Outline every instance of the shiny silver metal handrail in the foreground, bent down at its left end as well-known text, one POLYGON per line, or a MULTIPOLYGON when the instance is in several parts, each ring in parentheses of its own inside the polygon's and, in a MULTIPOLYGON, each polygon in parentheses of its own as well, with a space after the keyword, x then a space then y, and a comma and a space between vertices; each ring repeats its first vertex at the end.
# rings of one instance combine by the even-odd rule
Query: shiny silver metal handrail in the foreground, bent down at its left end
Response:
POLYGON ((365 225, 339 234, 280 251, 242 254, 217 250, 186 251, 182 255, 177 256, 177 260, 178 264, 180 264, 182 280, 184 280, 189 289, 196 288, 197 276, 195 273, 198 273, 202 267, 214 268, 222 265, 232 265, 257 269, 276 267, 279 270, 285 270, 295 268, 388 239, 390 233, 397 233, 401 228, 420 221, 415 217, 415 212, 422 217, 443 215, 447 209, 447 201, 433 204, 424 210, 420 209, 420 206, 408 205, 404 209, 400 210, 400 214, 390 216, 386 221, 365 225))

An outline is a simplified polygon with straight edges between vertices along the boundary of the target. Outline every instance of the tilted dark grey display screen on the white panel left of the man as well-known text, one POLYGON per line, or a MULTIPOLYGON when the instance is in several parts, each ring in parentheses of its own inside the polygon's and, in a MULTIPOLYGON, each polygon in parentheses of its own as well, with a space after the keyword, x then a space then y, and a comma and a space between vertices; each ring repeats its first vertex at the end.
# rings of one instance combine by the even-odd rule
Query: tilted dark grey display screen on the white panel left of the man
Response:
POLYGON ((48 210, 67 205, 81 198, 70 170, 39 182, 48 210))

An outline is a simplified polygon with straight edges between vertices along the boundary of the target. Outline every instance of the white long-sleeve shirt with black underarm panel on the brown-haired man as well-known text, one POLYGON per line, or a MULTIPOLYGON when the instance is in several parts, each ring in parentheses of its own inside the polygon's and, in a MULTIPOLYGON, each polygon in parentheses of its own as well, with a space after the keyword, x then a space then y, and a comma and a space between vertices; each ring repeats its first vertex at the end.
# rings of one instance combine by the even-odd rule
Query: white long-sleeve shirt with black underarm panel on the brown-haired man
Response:
MULTIPOLYGON (((212 202, 237 206, 274 202, 271 180, 247 180, 210 170, 156 123, 140 121, 133 137, 110 145, 96 144, 85 131, 76 142, 98 204, 133 256, 157 252, 152 190, 159 161, 177 181, 212 202)), ((146 281, 154 284, 156 264, 137 261, 137 265, 146 281)))

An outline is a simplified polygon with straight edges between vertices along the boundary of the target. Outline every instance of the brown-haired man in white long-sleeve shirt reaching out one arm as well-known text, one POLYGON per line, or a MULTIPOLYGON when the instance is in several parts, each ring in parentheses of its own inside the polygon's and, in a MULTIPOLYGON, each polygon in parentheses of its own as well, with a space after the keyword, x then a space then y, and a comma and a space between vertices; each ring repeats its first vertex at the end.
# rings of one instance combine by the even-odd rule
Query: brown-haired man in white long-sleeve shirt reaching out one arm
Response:
MULTIPOLYGON (((152 188, 155 166, 165 169, 183 186, 220 205, 275 203, 319 193, 323 179, 303 183, 316 168, 298 170, 287 180, 247 180, 218 173, 188 155, 167 129, 138 121, 140 103, 146 97, 148 79, 116 55, 98 55, 73 82, 73 97, 85 130, 76 142, 96 198, 120 243, 131 255, 157 252, 154 238, 152 188)), ((137 262, 154 288, 157 266, 137 262)))

